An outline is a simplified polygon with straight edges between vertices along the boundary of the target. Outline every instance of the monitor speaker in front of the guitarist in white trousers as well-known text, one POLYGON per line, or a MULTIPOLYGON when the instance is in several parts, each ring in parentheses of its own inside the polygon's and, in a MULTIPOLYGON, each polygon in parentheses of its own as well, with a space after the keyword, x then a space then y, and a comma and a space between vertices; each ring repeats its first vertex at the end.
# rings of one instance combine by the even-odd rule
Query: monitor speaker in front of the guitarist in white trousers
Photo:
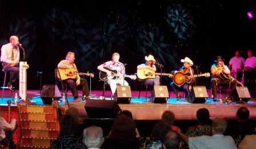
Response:
POLYGON ((130 86, 117 86, 117 103, 130 104, 131 100, 131 87, 130 86))

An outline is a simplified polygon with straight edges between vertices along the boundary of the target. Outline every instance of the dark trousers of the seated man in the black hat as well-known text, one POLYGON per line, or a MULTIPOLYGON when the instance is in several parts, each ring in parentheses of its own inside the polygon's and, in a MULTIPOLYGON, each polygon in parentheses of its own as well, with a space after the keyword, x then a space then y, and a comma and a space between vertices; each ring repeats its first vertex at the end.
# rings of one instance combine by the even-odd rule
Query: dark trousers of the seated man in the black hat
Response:
POLYGON ((227 85, 231 88, 231 95, 233 95, 235 91, 235 87, 237 87, 237 80, 219 80, 219 79, 213 79, 211 80, 211 92, 213 92, 213 98, 216 98, 216 92, 217 92, 217 85, 227 85))

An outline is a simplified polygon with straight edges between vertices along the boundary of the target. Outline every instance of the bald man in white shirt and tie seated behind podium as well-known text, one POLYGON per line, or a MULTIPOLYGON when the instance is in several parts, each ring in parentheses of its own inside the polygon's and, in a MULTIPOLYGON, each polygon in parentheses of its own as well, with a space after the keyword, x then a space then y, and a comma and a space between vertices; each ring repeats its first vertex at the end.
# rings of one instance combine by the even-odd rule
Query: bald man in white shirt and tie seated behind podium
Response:
POLYGON ((1 48, 1 62, 3 70, 10 73, 10 80, 7 87, 14 92, 13 84, 18 84, 19 80, 19 38, 11 36, 10 43, 7 43, 1 48))

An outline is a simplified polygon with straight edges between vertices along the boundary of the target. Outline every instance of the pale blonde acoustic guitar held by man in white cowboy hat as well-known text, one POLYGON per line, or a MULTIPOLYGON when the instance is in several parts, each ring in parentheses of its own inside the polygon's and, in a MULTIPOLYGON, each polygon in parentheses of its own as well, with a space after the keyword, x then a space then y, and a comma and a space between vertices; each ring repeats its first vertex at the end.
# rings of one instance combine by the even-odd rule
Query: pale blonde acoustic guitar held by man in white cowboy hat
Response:
POLYGON ((157 73, 157 72, 151 71, 149 69, 137 69, 137 77, 138 77, 139 81, 143 81, 147 78, 154 78, 155 75, 173 77, 173 74, 171 74, 171 73, 157 73))

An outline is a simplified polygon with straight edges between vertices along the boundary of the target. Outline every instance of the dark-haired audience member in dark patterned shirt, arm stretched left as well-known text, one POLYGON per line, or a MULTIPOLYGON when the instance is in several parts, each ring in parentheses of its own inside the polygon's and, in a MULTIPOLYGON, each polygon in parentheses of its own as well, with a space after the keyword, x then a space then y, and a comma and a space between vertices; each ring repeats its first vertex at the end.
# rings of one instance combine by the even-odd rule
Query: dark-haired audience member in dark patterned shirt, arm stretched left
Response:
POLYGON ((210 113, 206 108, 201 108, 197 110, 197 120, 199 125, 192 126, 187 129, 187 136, 201 136, 201 135, 211 135, 210 126, 210 113))

